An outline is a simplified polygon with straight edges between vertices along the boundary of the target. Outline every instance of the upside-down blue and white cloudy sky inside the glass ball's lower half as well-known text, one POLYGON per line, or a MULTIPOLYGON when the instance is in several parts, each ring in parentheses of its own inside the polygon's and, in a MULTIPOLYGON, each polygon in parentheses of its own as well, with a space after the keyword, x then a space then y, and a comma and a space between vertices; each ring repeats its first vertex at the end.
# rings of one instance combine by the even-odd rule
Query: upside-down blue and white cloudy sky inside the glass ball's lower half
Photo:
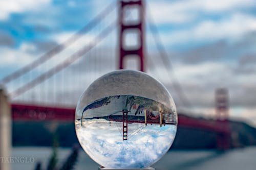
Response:
MULTIPOLYGON (((137 123, 129 124, 130 131, 137 123)), ((76 120, 76 133, 82 148, 97 163, 110 168, 142 168, 159 160, 174 141, 176 126, 148 125, 123 140, 122 123, 110 126, 105 119, 76 120)), ((141 126, 141 125, 139 125, 141 126)), ((143 126, 143 125, 142 125, 143 126)), ((129 131, 129 130, 128 130, 129 131)))

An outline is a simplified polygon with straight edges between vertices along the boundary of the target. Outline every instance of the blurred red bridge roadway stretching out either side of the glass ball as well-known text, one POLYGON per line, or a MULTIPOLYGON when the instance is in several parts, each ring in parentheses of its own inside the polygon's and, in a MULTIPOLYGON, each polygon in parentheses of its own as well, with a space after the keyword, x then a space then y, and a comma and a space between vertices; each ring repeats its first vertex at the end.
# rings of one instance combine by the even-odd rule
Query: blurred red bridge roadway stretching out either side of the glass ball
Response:
MULTIPOLYGON (((74 108, 12 104, 11 109, 12 119, 14 121, 73 122, 75 119, 74 108)), ((178 126, 202 129, 207 131, 215 131, 222 134, 230 133, 225 128, 225 121, 210 121, 205 119, 188 117, 183 114, 178 114, 178 126)))

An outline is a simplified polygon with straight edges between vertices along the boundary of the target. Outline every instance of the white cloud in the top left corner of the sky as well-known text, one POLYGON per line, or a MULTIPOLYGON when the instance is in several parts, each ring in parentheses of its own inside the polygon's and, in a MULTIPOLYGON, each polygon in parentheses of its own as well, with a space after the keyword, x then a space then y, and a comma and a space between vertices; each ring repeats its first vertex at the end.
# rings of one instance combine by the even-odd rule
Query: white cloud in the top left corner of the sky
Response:
POLYGON ((50 0, 8 0, 0 1, 0 20, 6 20, 11 13, 22 13, 29 10, 37 10, 38 7, 42 7, 49 4, 50 0))

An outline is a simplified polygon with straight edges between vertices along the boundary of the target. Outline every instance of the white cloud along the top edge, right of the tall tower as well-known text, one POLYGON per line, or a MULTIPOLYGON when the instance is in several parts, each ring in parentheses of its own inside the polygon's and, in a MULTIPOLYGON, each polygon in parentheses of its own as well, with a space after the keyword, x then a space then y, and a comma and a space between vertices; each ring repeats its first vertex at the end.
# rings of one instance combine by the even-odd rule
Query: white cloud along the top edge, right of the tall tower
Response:
POLYGON ((253 0, 190 0, 190 1, 150 1, 150 13, 157 24, 185 23, 200 17, 200 13, 219 13, 250 8, 253 0))

